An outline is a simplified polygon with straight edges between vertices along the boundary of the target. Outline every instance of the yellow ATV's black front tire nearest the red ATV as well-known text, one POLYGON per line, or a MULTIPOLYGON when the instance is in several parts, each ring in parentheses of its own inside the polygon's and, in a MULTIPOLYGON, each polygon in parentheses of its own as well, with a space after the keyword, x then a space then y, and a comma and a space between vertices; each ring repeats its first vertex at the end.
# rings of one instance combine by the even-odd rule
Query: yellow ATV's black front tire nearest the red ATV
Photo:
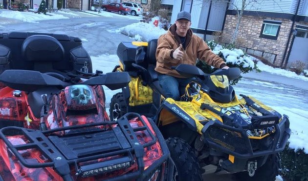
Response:
POLYGON ((199 162, 192 147, 180 138, 166 140, 171 158, 176 165, 176 181, 202 181, 199 162))

